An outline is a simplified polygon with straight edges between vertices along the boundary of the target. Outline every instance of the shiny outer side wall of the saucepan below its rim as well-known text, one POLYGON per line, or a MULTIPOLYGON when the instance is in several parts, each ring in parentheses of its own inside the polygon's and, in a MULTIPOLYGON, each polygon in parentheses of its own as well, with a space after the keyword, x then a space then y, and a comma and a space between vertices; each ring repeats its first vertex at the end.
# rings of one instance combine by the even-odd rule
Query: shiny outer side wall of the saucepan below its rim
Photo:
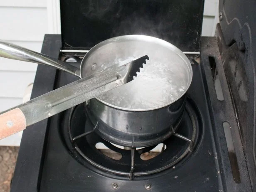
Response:
POLYGON ((119 116, 118 112, 108 107, 108 110, 101 112, 105 118, 96 115, 101 110, 92 110, 100 106, 96 101, 91 103, 90 107, 86 106, 86 118, 89 121, 86 123, 94 127, 94 131, 100 137, 116 145, 132 148, 148 147, 166 140, 177 131, 184 115, 186 101, 186 96, 183 96, 172 105, 154 112, 130 113, 120 110, 119 113, 123 116, 119 116), (149 113, 152 114, 151 117, 149 113), (126 121, 115 124, 113 123, 116 122, 115 118, 126 121))

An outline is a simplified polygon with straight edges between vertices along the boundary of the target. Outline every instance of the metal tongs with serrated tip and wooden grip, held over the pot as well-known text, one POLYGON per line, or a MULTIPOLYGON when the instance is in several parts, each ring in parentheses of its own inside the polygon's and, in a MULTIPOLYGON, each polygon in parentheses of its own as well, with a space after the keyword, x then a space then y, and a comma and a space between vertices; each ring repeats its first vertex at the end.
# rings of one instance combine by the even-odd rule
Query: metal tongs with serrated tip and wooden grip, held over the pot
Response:
POLYGON ((146 64, 146 59, 149 59, 147 55, 121 66, 110 66, 4 111, 0 114, 0 139, 132 81, 143 63, 146 64))

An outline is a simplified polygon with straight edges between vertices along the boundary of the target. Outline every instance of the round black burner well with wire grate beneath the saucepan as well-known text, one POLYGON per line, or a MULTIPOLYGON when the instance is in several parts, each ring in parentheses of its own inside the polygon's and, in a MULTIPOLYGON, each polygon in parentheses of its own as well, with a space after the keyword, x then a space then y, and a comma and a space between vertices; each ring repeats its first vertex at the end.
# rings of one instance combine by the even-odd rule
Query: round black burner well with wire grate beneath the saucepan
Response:
POLYGON ((176 169, 194 153, 199 140, 200 116, 190 98, 187 98, 186 110, 177 133, 161 142, 166 149, 162 148, 160 154, 149 160, 143 160, 141 154, 149 152, 157 145, 130 150, 118 148, 94 132, 97 126, 94 127, 87 120, 85 111, 84 104, 81 104, 72 108, 69 114, 65 114, 69 119, 63 131, 66 145, 81 164, 86 167, 91 164, 97 168, 94 169, 96 172, 107 174, 108 177, 111 173, 133 180, 138 176, 155 174, 171 167, 176 169), (96 148, 97 143, 103 143, 110 150, 120 153, 121 159, 104 155, 96 148))

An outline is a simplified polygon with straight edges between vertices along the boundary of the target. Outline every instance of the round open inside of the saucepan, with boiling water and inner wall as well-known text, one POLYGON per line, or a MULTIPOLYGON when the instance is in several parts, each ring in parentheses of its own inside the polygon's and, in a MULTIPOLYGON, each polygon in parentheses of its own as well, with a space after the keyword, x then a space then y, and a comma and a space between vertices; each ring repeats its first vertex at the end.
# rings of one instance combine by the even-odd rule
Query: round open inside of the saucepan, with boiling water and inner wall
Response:
POLYGON ((154 37, 126 35, 102 42, 88 55, 83 76, 144 55, 149 61, 133 81, 97 98, 130 111, 159 108, 180 98, 191 82, 190 62, 180 49, 154 37))

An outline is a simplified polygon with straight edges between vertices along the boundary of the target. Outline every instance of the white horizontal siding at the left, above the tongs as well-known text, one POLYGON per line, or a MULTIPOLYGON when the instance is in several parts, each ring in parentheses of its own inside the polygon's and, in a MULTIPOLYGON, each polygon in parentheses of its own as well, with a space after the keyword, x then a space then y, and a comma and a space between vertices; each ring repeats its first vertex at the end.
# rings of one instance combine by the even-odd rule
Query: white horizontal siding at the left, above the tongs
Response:
MULTIPOLYGON (((47 28, 46 0, 0 1, 0 39, 40 52, 47 28), (4 19, 3 19, 4 18, 4 19)), ((0 58, 0 111, 22 101, 28 84, 33 83, 37 64, 0 58), (13 102, 12 102, 13 101, 13 102)))

